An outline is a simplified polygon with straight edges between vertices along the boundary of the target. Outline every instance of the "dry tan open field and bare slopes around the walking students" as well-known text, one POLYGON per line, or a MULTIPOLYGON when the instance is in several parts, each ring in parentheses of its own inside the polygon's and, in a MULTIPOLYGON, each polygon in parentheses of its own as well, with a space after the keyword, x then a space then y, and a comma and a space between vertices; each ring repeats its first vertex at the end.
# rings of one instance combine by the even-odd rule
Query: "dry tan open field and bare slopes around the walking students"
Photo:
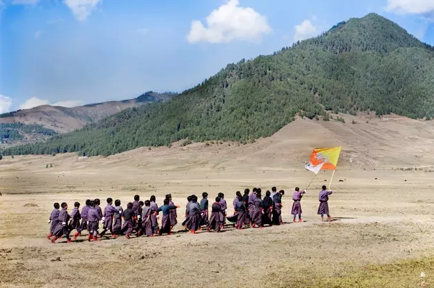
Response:
POLYGON ((5 157, 0 286, 123 287, 146 281, 156 287, 430 287, 434 168, 433 156, 425 153, 434 125, 355 119, 358 124, 297 120, 245 146, 174 144, 106 158, 5 157), (304 188, 313 177, 302 168, 311 148, 337 144, 343 150, 329 201, 333 221, 321 223, 316 215, 319 188, 331 177, 327 171, 302 200, 304 223, 291 223, 292 189, 304 188), (206 191, 211 202, 224 192, 231 213, 236 190, 246 186, 285 189, 288 223, 196 235, 176 225, 172 236, 99 243, 88 243, 85 236, 70 244, 45 239, 54 201, 67 202, 71 210, 74 201, 112 197, 125 208, 135 194, 156 195, 160 205, 172 193, 181 206, 180 222, 188 195, 206 191))

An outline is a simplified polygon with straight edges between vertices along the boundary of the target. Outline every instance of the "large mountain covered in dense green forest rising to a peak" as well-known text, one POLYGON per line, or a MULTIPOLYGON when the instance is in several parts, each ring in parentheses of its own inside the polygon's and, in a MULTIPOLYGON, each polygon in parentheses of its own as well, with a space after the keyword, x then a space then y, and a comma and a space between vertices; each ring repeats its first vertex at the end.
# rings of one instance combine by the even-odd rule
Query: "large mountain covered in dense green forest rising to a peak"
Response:
POLYGON ((229 64, 170 102, 127 109, 46 143, 4 153, 111 155, 183 139, 186 144, 254 142, 296 115, 333 120, 329 111, 429 120, 433 93, 433 47, 392 21, 368 14, 273 55, 229 64))

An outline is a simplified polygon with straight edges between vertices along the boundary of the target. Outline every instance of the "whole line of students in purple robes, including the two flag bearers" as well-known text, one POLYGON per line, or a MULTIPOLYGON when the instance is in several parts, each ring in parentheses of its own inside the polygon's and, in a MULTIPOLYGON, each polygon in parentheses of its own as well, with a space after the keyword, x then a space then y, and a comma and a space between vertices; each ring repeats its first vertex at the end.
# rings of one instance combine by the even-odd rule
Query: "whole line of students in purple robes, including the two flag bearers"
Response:
MULTIPOLYGON (((292 195, 293 222, 302 222, 301 199, 306 193, 298 187, 292 195)), ((322 186, 320 191, 318 214, 324 221, 324 214, 327 215, 328 221, 331 221, 329 214, 329 195, 333 192, 322 186)), ((240 191, 236 192, 234 199, 234 214, 227 216, 227 202, 223 193, 218 193, 215 202, 211 205, 211 215, 209 215, 208 193, 203 192, 203 198, 198 202, 198 197, 192 195, 187 197, 187 206, 185 209, 185 221, 182 225, 185 230, 195 234, 196 231, 206 228, 207 231, 214 230, 220 232, 226 224, 226 220, 232 223, 236 229, 242 229, 245 226, 252 228, 262 228, 264 225, 282 225, 282 196, 284 190, 277 191, 276 187, 267 190, 265 197, 262 198, 262 190, 254 188, 251 192, 247 188, 244 195, 240 191)), ((67 203, 54 203, 54 210, 50 215, 48 223, 50 233, 47 238, 54 243, 57 239, 65 236, 67 242, 72 242, 71 232, 76 230, 72 237, 74 240, 81 236, 83 230, 87 230, 87 241, 99 241, 99 237, 104 236, 107 231, 114 238, 119 235, 125 235, 127 239, 135 232, 136 236, 154 236, 155 234, 172 234, 172 229, 178 223, 176 209, 172 201, 172 195, 166 195, 163 206, 158 207, 156 197, 152 195, 149 200, 140 201, 140 196, 135 195, 134 201, 127 203, 127 209, 121 207, 121 200, 107 198, 107 206, 104 212, 101 210, 101 201, 99 199, 85 201, 85 206, 79 212, 80 203, 74 203, 72 213, 68 213, 67 203), (163 214, 161 227, 158 225, 159 213, 163 214), (81 222, 80 222, 81 221, 81 222), (103 231, 99 232, 99 225, 103 224, 103 231)))

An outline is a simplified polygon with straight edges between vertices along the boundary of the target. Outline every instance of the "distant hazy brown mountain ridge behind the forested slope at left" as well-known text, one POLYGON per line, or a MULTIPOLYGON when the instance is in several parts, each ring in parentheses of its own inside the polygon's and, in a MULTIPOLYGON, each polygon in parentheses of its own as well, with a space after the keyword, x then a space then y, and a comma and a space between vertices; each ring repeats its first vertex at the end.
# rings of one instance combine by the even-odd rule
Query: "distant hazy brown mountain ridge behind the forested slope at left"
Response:
POLYGON ((48 129, 43 131, 44 135, 71 132, 82 128, 85 124, 97 122, 124 109, 153 102, 164 102, 174 96, 176 96, 174 93, 148 91, 130 100, 108 101, 72 108, 43 105, 5 113, 0 115, 0 137, 3 135, 3 139, 8 140, 33 139, 32 135, 41 136, 41 133, 28 134, 28 131, 34 130, 36 127, 41 131, 43 131, 42 127, 48 129), (13 126, 14 124, 15 126, 13 126), (4 130, 3 134, 1 129, 4 130), (12 132, 9 133, 9 131, 12 132), (10 138, 9 134, 14 135, 14 137, 10 138), (4 137, 6 135, 8 137, 4 137))

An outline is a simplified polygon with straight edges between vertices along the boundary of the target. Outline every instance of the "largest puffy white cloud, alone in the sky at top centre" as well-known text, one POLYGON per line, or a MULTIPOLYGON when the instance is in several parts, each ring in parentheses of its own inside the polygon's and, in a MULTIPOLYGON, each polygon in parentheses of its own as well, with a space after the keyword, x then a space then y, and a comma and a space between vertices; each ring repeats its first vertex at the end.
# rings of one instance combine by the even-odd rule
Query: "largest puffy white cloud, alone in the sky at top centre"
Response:
POLYGON ((271 31, 267 17, 249 7, 239 7, 238 0, 229 0, 207 16, 207 27, 192 21, 187 35, 190 43, 224 43, 235 39, 259 41, 262 34, 271 31))

